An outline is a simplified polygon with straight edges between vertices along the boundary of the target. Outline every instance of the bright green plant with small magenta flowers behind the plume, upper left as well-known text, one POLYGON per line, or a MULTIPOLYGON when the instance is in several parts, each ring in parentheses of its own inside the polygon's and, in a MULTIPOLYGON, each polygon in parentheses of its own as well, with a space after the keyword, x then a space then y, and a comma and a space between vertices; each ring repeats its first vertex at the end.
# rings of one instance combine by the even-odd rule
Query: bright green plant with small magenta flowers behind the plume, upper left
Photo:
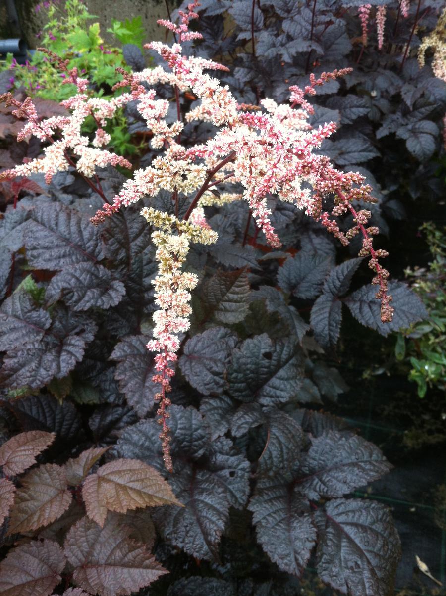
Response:
MULTIPOLYGON (((130 69, 122 49, 107 45, 103 41, 99 23, 89 24, 91 19, 97 17, 88 13, 81 0, 67 0, 63 8, 51 2, 45 2, 36 8, 48 10, 48 23, 41 34, 41 45, 63 60, 69 60, 69 69, 76 67, 81 75, 88 77, 95 87, 92 89, 95 95, 109 97, 112 93, 111 87, 116 82, 116 67, 130 69)), ((112 29, 108 31, 112 32, 121 44, 132 43, 142 47, 144 29, 141 17, 135 17, 131 21, 126 19, 125 23, 112 20, 112 29)), ((43 52, 34 52, 30 61, 22 66, 16 63, 12 54, 8 54, 5 66, 13 75, 10 79, 13 88, 23 86, 31 97, 63 101, 76 94, 76 86, 70 83, 62 84, 63 76, 57 64, 49 60, 48 55, 43 52)), ((119 94, 120 90, 115 93, 119 94)), ((83 131, 91 132, 90 128, 91 131, 95 129, 92 120, 85 123, 83 131)), ((138 147, 132 143, 123 110, 117 111, 107 126, 107 132, 112 137, 111 145, 117 154, 130 156, 138 151, 138 147)))

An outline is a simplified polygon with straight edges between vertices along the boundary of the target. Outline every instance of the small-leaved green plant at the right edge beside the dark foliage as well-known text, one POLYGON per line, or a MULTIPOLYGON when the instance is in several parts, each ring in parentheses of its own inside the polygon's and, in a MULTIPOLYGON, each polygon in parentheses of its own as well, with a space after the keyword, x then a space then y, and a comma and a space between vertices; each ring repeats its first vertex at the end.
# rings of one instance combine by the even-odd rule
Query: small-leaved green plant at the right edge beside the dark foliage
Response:
POLYGON ((413 288, 428 309, 429 317, 398 334, 395 355, 399 361, 409 360, 409 378, 418 385, 423 398, 428 387, 446 389, 446 228, 438 229, 431 222, 421 228, 426 233, 433 260, 428 268, 407 269, 413 288))

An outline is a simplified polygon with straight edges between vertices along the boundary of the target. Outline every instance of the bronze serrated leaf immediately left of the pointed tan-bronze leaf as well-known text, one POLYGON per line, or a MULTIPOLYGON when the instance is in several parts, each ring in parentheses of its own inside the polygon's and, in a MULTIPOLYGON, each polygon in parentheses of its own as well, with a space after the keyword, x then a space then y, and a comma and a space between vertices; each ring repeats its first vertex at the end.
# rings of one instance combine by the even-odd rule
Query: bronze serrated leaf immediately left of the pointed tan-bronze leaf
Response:
POLYGON ((8 535, 47 526, 72 502, 65 470, 55 464, 41 465, 20 480, 11 508, 8 535))

